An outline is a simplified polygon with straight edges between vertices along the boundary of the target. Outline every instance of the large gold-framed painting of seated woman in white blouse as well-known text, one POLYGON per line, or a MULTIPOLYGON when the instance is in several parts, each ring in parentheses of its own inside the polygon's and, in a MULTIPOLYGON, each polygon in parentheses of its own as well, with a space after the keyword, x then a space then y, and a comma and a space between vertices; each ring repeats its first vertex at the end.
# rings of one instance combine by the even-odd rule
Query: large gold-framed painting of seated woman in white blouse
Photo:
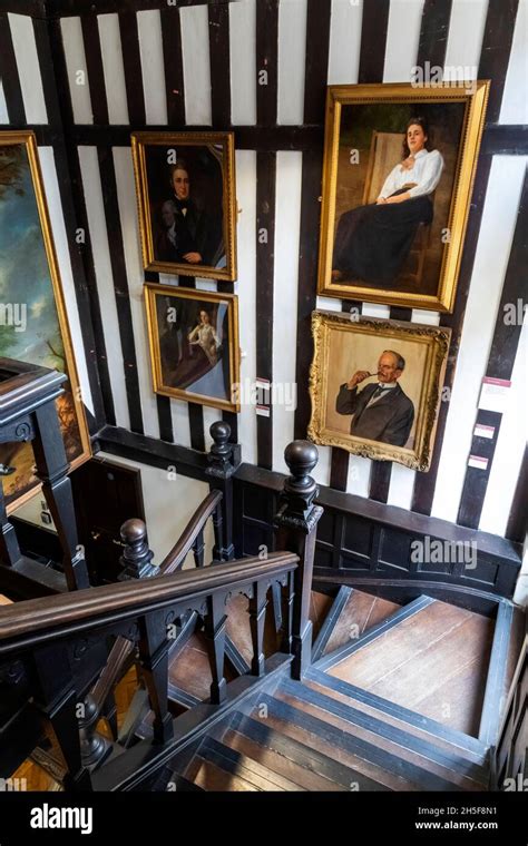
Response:
POLYGON ((452 311, 488 90, 329 88, 320 294, 452 311))

